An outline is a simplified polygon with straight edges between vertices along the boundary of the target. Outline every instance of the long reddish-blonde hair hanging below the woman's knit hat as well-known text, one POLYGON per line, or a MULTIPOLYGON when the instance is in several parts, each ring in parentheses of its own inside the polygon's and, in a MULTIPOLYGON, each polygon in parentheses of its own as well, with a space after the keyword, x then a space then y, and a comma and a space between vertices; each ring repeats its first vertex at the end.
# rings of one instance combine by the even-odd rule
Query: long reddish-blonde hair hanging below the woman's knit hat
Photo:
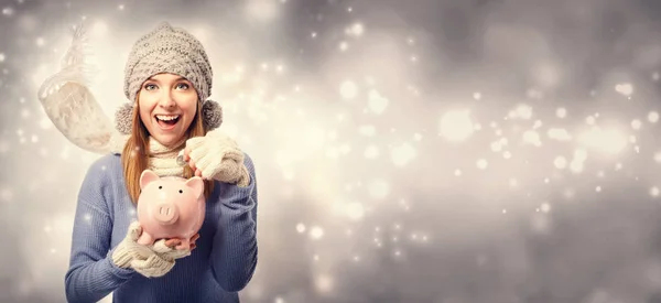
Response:
MULTIPOLYGON (((132 115, 131 136, 124 145, 121 153, 121 164, 123 166, 124 183, 129 192, 131 202, 138 204, 138 197, 140 196, 140 175, 144 170, 149 167, 149 131, 140 119, 140 98, 136 97, 136 107, 132 115)), ((202 104, 197 102, 197 110, 195 117, 188 127, 188 130, 184 134, 186 139, 193 137, 203 137, 206 134, 207 129, 204 126, 202 117, 202 104)), ((184 177, 189 178, 195 174, 191 166, 184 166, 184 177)), ((205 199, 209 197, 214 191, 214 181, 204 181, 204 196, 205 199)))

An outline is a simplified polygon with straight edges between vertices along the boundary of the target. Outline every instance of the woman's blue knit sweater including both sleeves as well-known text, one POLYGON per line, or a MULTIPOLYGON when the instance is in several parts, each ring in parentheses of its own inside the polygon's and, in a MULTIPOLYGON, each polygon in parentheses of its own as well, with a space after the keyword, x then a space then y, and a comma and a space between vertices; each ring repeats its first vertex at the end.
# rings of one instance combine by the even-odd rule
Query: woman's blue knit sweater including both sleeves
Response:
POLYGON ((257 266, 257 186, 246 155, 250 184, 216 182, 191 256, 176 260, 161 278, 144 278, 112 262, 112 249, 136 220, 120 156, 108 154, 88 170, 78 194, 71 263, 65 277, 68 302, 239 302, 238 291, 257 266))

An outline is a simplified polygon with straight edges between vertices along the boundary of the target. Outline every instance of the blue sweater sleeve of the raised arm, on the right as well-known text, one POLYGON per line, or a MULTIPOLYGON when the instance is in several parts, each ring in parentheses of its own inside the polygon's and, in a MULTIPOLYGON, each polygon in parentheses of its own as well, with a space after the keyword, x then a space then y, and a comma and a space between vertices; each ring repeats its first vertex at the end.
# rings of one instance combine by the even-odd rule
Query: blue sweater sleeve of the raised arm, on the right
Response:
POLYGON ((247 154, 243 163, 250 183, 221 187, 220 219, 210 253, 214 278, 228 292, 242 290, 257 267, 257 180, 247 154))

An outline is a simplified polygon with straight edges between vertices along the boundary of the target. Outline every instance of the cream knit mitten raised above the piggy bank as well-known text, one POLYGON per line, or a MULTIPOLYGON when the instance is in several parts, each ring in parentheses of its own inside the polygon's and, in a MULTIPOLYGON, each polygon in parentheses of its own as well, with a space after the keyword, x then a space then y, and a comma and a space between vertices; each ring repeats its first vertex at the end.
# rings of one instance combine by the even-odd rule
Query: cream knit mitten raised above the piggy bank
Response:
POLYGON ((195 137, 186 141, 188 156, 204 178, 215 178, 225 183, 236 183, 245 187, 250 175, 243 164, 243 152, 237 142, 218 129, 205 137, 195 137))

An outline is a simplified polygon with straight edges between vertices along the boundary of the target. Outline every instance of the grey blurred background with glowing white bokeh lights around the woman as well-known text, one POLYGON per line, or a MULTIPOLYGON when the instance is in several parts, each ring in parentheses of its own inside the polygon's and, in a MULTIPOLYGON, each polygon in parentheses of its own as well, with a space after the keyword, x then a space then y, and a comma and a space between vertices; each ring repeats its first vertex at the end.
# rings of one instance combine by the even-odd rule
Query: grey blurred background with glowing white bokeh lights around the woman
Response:
POLYGON ((0 3, 0 302, 65 301, 100 155, 36 90, 83 18, 109 117, 141 34, 207 48, 259 182, 242 302, 661 302, 659 1, 0 3))

